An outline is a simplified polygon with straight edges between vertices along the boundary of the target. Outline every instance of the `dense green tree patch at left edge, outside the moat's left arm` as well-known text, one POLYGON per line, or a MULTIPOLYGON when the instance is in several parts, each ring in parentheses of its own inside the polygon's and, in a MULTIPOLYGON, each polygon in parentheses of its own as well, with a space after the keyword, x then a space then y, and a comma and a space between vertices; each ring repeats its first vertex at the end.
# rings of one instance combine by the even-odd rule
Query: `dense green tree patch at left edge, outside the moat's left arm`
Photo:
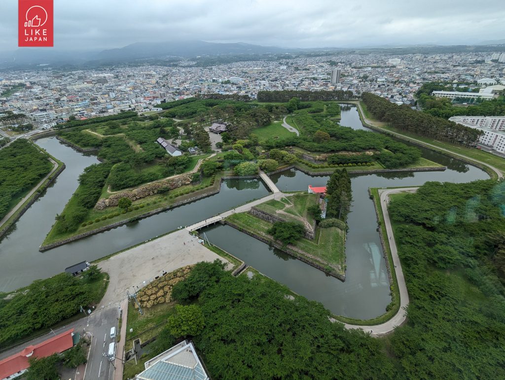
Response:
POLYGON ((53 164, 47 155, 25 139, 0 150, 0 219, 14 206, 13 200, 35 186, 53 164))

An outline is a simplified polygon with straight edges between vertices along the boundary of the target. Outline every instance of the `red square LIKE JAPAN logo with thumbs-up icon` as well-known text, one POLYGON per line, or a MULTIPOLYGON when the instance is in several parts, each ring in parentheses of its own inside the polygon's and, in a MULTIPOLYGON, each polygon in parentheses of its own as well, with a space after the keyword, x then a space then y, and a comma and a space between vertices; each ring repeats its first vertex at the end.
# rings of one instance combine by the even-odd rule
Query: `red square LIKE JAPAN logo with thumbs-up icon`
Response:
POLYGON ((53 0, 18 0, 18 46, 53 46, 53 0))

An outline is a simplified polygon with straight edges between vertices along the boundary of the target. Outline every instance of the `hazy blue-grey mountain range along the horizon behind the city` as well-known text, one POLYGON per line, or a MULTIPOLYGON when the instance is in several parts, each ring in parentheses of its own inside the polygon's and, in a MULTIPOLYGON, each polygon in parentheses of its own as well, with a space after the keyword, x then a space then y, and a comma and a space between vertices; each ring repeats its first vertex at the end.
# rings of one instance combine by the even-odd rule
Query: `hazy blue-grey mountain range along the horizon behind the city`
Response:
POLYGON ((246 60, 251 57, 262 58, 269 55, 315 55, 318 52, 359 52, 408 54, 408 53, 455 53, 460 51, 505 51, 505 39, 486 41, 479 45, 442 46, 435 44, 418 45, 382 45, 360 48, 284 48, 277 46, 261 46, 243 42, 218 43, 199 40, 167 41, 167 42, 137 42, 130 45, 106 50, 95 51, 64 51, 53 48, 20 48, 11 53, 3 54, 0 69, 33 69, 51 66, 53 68, 87 68, 121 63, 176 61, 180 58, 196 58, 200 60, 226 56, 227 61, 246 60), (500 45, 502 44, 502 45, 500 45), (496 45, 499 45, 497 48, 496 45), (240 58, 242 56, 242 58, 240 58))

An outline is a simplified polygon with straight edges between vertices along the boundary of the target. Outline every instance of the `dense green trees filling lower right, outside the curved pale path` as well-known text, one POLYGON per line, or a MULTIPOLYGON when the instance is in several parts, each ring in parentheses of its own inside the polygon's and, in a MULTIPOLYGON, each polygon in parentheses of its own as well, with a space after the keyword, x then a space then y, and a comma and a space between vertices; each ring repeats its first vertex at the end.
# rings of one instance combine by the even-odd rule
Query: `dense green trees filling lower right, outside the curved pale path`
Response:
POLYGON ((505 378, 505 182, 428 182, 390 215, 409 291, 408 378, 505 378))

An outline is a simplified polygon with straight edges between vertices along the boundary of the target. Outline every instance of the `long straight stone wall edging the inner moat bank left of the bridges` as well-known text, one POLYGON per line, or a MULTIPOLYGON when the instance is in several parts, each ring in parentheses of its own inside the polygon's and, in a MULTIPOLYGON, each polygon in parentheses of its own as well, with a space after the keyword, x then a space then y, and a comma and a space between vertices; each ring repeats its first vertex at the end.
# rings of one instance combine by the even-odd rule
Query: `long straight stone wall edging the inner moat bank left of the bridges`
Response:
MULTIPOLYGON (((242 178, 242 177, 239 177, 239 178, 242 178)), ((217 194, 217 193, 219 193, 221 191, 221 183, 223 182, 223 180, 227 180, 227 179, 230 179, 230 177, 222 177, 221 181, 219 182, 219 184, 217 186, 217 188, 210 187, 209 191, 206 191, 203 194, 195 195, 195 196, 193 196, 191 198, 187 198, 187 199, 184 199, 184 200, 172 203, 172 204, 170 204, 168 206, 164 206, 164 207, 157 208, 155 210, 148 211, 146 213, 134 216, 133 218, 125 219, 125 220, 122 220, 122 221, 119 221, 119 222, 116 222, 116 223, 113 223, 113 224, 110 224, 110 225, 107 225, 107 226, 96 228, 96 229, 91 230, 91 231, 83 232, 82 234, 71 236, 71 237, 69 237, 67 239, 59 240, 57 242, 54 242, 54 243, 51 243, 51 244, 47 244, 47 245, 41 245, 38 248, 38 250, 40 252, 44 252, 44 251, 47 251, 49 249, 53 249, 53 248, 59 247, 61 245, 73 242, 75 240, 79 240, 79 239, 85 238, 85 237, 90 236, 90 235, 98 234, 100 232, 112 230, 113 228, 123 226, 123 225, 125 225, 127 223, 138 221, 138 220, 144 219, 144 218, 148 218, 151 215, 156 215, 156 214, 158 214, 160 212, 169 210, 171 208, 182 206, 183 204, 194 202, 194 201, 196 201, 198 199, 206 198, 208 196, 217 194)))

